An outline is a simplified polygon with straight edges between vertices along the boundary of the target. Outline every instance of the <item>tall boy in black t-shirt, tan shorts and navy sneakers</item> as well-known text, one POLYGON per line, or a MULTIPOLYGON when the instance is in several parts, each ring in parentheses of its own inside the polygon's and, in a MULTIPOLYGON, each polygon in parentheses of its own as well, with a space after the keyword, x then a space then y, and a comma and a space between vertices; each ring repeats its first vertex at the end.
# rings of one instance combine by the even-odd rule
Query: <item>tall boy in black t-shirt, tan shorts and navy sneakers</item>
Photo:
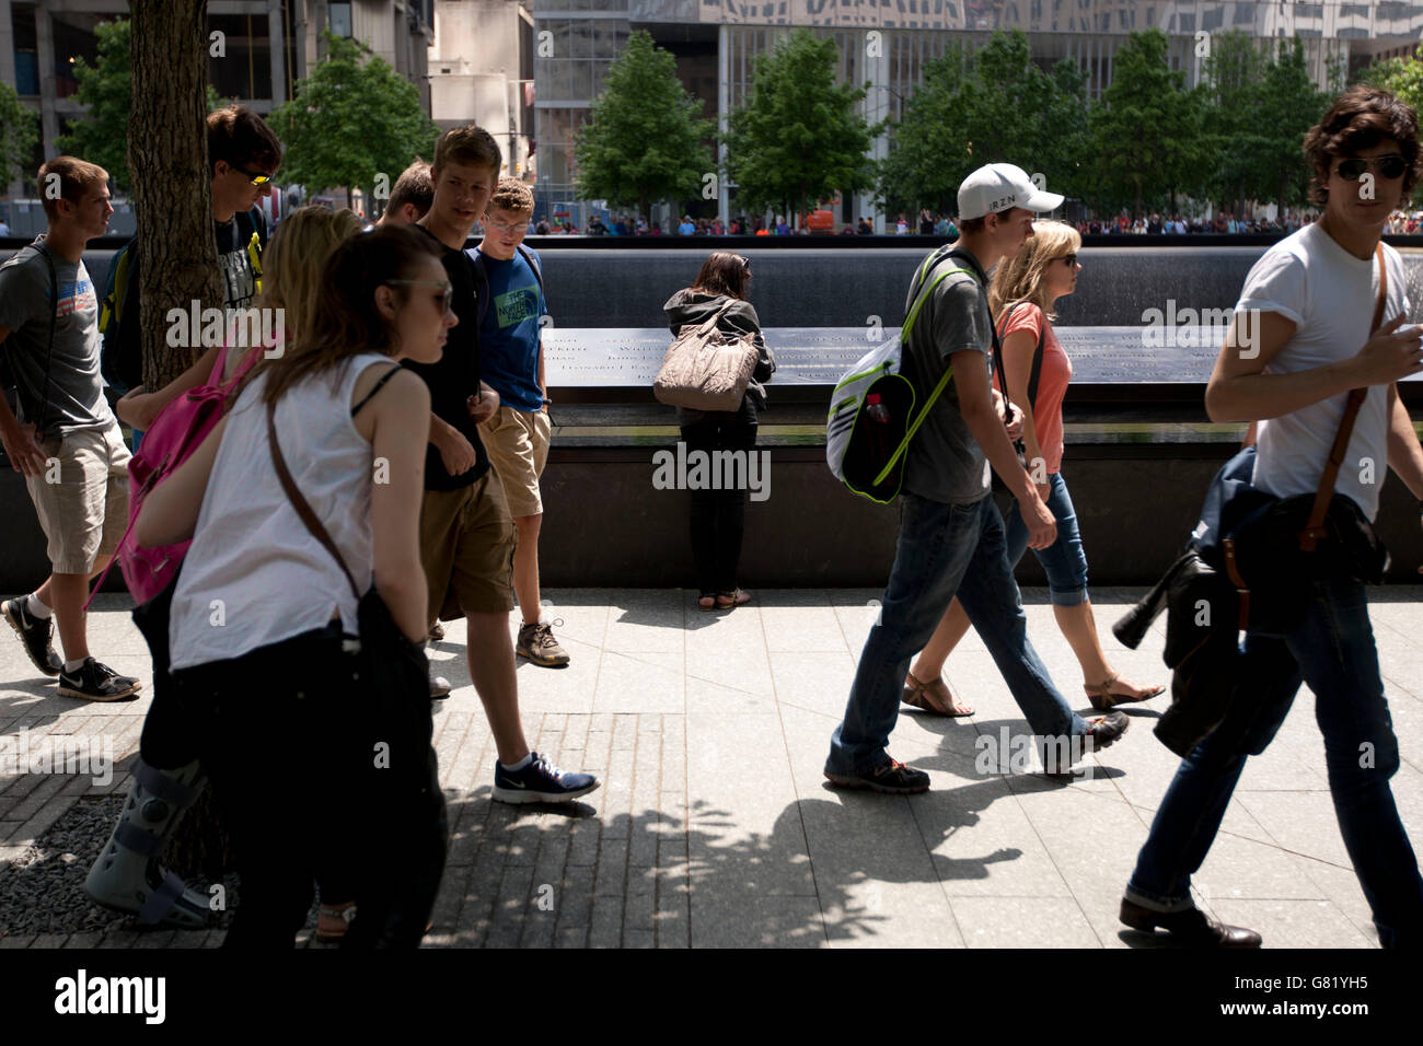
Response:
POLYGON ((494 798, 561 803, 588 794, 599 783, 592 774, 559 770, 529 751, 524 739, 509 642, 517 538, 499 477, 480 440, 480 423, 498 410, 499 394, 480 380, 480 312, 487 287, 464 243, 488 206, 499 159, 490 132, 472 124, 440 135, 430 171, 434 202, 413 226, 438 243, 450 279, 450 307, 458 319, 437 363, 406 363, 430 386, 420 556, 430 585, 430 623, 460 616, 468 622, 470 679, 498 749, 494 798))

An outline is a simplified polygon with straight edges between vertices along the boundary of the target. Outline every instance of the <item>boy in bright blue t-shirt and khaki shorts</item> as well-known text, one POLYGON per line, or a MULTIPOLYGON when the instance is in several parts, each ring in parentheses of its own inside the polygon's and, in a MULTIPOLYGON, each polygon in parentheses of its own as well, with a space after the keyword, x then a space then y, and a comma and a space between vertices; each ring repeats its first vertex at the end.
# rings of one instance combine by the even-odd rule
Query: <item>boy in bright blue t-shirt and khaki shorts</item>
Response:
POLYGON ((480 322, 480 376, 499 394, 499 408, 480 434, 499 474, 518 531, 514 592, 524 620, 515 652, 535 665, 568 665, 554 628, 539 619, 538 532, 544 498, 538 480, 551 437, 548 386, 539 320, 548 313, 538 255, 522 245, 534 213, 534 194, 517 178, 501 178, 490 198, 484 239, 470 250, 490 280, 488 309, 480 322))

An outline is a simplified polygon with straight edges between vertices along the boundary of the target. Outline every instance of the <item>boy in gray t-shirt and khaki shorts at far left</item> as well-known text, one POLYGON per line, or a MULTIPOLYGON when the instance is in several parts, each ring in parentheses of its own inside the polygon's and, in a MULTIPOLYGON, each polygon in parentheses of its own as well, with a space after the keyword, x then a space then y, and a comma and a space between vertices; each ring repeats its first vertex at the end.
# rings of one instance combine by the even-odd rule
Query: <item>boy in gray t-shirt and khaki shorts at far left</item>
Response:
POLYGON ((84 599, 128 522, 128 448, 100 379, 98 295, 84 245, 102 236, 114 208, 108 172, 74 157, 40 168, 48 232, 0 266, 0 353, 20 417, 0 396, 0 443, 24 474, 48 541, 50 578, 0 613, 34 666, 58 676, 65 697, 114 702, 142 686, 90 656, 84 599), (54 652, 60 626, 64 659, 54 652))

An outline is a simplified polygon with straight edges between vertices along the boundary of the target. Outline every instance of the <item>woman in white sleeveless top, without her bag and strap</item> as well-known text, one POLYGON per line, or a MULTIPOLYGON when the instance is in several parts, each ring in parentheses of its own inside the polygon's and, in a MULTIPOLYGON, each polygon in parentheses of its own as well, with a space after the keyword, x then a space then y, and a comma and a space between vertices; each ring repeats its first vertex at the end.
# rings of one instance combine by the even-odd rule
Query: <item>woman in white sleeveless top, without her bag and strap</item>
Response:
POLYGON ((418 233, 379 229, 343 242, 309 329, 259 366, 139 514, 139 545, 194 539, 169 639, 175 687, 238 854, 229 946, 290 946, 316 865, 370 833, 346 787, 370 753, 342 729, 356 683, 343 649, 357 630, 356 599, 282 491, 268 403, 297 490, 357 582, 371 581, 421 645, 430 394, 391 361, 438 360, 455 323, 448 305, 444 268, 418 233))

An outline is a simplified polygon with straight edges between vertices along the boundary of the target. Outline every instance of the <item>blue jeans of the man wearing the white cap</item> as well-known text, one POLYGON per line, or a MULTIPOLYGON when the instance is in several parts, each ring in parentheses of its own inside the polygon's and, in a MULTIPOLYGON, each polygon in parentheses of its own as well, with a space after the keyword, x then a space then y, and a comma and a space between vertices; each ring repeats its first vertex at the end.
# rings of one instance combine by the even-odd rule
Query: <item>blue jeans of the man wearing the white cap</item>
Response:
POLYGON ((889 586, 879 620, 859 655, 845 719, 830 740, 825 771, 874 773, 889 760, 885 747, 899 716, 909 659, 924 649, 955 595, 1033 733, 1087 733, 1087 724, 1057 693, 1027 642, 1027 616, 993 498, 945 505, 902 494, 899 502, 899 544, 889 586))

